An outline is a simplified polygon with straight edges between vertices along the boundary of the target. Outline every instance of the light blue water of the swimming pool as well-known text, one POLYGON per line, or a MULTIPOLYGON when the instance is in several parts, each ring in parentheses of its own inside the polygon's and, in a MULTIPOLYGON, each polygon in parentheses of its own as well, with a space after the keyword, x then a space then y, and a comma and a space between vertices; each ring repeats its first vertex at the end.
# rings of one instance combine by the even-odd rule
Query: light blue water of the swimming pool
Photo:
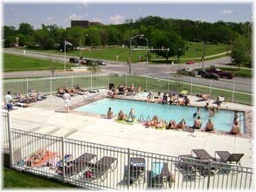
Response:
MULTIPOLYGON (((178 123, 184 117, 187 125, 193 126, 194 120, 193 113, 197 111, 196 106, 170 106, 163 104, 155 104, 155 103, 146 103, 145 101, 137 101, 137 100, 128 100, 128 99, 100 99, 97 102, 93 102, 87 104, 85 106, 80 106, 75 109, 75 111, 79 112, 87 112, 87 113, 97 113, 97 114, 107 114, 108 107, 112 108, 114 115, 117 115, 120 110, 124 113, 128 114, 130 108, 135 109, 136 119, 142 120, 151 120, 152 117, 157 114, 159 120, 161 118, 165 119, 167 122, 170 120, 176 120, 178 123)), ((217 111, 214 116, 211 117, 211 120, 214 123, 215 129, 219 131, 228 132, 232 127, 234 112, 231 110, 220 110, 217 111)), ((203 121, 202 127, 205 127, 206 122, 210 118, 209 111, 201 108, 200 112, 201 120, 203 121)), ((239 126, 241 133, 245 133, 245 113, 239 112, 239 126)))

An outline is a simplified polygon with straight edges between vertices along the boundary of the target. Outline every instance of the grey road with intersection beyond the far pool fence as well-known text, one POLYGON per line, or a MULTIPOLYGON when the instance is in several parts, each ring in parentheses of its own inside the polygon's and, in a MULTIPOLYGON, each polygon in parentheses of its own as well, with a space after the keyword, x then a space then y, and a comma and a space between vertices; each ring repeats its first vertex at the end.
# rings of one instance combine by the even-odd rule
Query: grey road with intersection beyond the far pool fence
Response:
MULTIPOLYGON (((4 49, 4 52, 17 54, 17 55, 25 55, 27 57, 33 58, 44 58, 58 60, 59 62, 65 61, 64 55, 60 56, 59 54, 44 54, 32 51, 24 51, 23 50, 12 50, 12 49, 4 49)), ((69 57, 66 57, 66 63, 69 62, 69 57)), ((128 73, 129 66, 125 62, 118 62, 118 61, 107 61, 106 66, 100 66, 100 73, 128 73)), ((210 61, 204 61, 204 67, 210 65, 225 65, 231 62, 231 58, 224 57, 224 58, 217 58, 210 61)), ((141 74, 141 75, 148 75, 150 77, 156 77, 161 79, 172 79, 178 80, 182 82, 192 82, 194 84, 201 84, 204 86, 209 86, 211 84, 210 79, 202 79, 201 77, 197 76, 196 78, 191 79, 190 76, 177 76, 176 71, 178 69, 182 69, 184 67, 189 68, 200 68, 201 64, 194 64, 194 65, 186 65, 186 64, 174 64, 174 65, 147 65, 146 63, 133 63, 131 65, 131 74, 141 74)), ((76 75, 76 74, 88 74, 90 72, 73 72, 73 71, 62 71, 62 72, 55 72, 54 76, 65 76, 65 75, 76 75)), ((14 79, 14 78, 29 78, 29 77, 50 77, 52 76, 52 72, 49 71, 33 71, 33 72, 4 72, 2 74, 3 79, 14 79)), ((212 80, 212 85, 217 86, 219 88, 226 88, 232 89, 233 82, 236 85, 236 90, 239 92, 246 92, 246 93, 253 93, 252 88, 252 79, 245 79, 245 78, 235 78, 235 79, 220 79, 219 81, 212 80)))

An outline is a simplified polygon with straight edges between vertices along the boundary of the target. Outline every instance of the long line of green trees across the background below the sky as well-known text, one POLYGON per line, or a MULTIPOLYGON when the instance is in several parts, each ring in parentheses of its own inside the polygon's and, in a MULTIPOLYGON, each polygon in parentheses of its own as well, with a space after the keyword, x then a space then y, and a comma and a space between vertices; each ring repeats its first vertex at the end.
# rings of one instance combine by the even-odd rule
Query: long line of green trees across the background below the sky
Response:
POLYGON ((202 41, 206 44, 232 45, 232 58, 236 64, 252 65, 252 23, 233 23, 218 21, 207 23, 163 17, 140 17, 127 19, 124 24, 93 25, 89 28, 72 27, 63 29, 56 24, 42 24, 34 30, 31 24, 21 23, 19 28, 3 26, 4 47, 26 45, 27 48, 45 50, 64 50, 65 39, 73 44, 72 49, 81 46, 129 45, 130 39, 143 34, 143 38, 134 38, 133 45, 146 45, 154 49, 170 48, 169 51, 152 51, 168 59, 179 57, 188 49, 188 42, 202 41))

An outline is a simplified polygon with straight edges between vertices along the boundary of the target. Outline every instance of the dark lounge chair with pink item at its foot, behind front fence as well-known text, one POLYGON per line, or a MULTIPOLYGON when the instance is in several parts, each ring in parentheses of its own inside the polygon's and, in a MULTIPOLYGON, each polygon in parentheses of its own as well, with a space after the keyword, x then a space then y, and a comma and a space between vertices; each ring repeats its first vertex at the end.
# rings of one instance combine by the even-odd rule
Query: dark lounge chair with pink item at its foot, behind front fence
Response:
POLYGON ((114 157, 104 156, 95 163, 88 163, 88 169, 84 174, 84 179, 89 182, 103 182, 107 178, 107 173, 113 172, 117 167, 117 159, 114 157), (88 175, 90 174, 90 175, 88 175))

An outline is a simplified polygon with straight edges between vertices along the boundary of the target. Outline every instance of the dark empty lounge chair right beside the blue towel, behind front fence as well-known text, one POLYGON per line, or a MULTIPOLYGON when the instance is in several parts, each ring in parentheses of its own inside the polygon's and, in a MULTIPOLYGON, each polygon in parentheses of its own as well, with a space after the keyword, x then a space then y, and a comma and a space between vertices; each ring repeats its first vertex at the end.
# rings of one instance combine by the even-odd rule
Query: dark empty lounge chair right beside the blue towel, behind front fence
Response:
MULTIPOLYGON (((89 161, 92 161, 96 154, 82 154, 75 160, 65 162, 65 174, 69 176, 77 175, 88 167, 89 161)), ((63 165, 58 168, 58 174, 62 175, 63 165)))

